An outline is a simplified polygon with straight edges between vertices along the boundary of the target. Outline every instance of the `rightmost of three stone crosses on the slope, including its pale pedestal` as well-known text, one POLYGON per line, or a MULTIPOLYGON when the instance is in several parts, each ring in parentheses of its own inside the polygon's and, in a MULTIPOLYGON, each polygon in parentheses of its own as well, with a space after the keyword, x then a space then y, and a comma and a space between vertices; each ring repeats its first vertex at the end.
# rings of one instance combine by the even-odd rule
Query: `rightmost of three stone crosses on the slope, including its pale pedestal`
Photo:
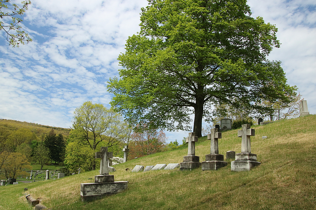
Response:
POLYGON ((241 153, 237 153, 235 161, 231 162, 231 171, 250 171, 252 167, 261 164, 257 162, 257 155, 251 153, 251 136, 255 136, 255 130, 249 124, 242 125, 242 130, 238 131, 238 137, 241 137, 241 153))

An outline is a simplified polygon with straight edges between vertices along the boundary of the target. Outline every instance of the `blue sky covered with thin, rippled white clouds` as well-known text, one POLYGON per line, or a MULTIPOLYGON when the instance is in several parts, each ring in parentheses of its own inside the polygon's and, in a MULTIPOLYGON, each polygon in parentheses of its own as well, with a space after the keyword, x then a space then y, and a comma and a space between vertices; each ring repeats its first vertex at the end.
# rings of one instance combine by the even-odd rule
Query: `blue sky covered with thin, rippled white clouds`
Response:
MULTIPOLYGON (((19 1, 11 0, 13 3, 19 1)), ((146 0, 31 0, 23 30, 33 42, 12 48, 0 31, 0 118, 69 128, 86 101, 110 108, 109 78, 118 76, 117 57, 128 36, 140 30, 146 0)), ((276 25, 281 47, 269 60, 282 61, 316 113, 316 2, 250 0, 252 17, 276 25)), ((207 125, 204 123, 204 126, 207 125)), ((182 143, 186 131, 165 131, 182 143)))

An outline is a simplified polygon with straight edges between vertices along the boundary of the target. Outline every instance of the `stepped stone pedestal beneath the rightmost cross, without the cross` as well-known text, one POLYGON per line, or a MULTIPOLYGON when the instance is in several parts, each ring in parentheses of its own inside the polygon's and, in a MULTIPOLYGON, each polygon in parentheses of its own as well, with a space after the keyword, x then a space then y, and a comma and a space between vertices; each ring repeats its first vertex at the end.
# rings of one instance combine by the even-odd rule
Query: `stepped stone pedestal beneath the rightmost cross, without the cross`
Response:
POLYGON ((231 171, 250 171, 251 168, 259 166, 257 155, 252 153, 238 153, 235 156, 235 161, 231 162, 231 171))

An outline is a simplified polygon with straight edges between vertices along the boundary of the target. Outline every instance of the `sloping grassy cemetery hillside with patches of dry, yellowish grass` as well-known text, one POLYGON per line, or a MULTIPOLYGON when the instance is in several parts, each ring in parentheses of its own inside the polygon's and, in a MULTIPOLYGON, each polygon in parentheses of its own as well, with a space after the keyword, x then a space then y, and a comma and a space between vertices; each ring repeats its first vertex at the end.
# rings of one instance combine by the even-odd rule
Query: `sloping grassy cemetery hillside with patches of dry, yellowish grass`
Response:
MULTIPOLYGON (((316 206, 316 115, 252 126, 252 153, 261 165, 249 172, 231 172, 230 163, 217 171, 126 172, 135 165, 180 163, 187 144, 115 165, 115 181, 126 180, 128 190, 95 201, 82 202, 80 183, 93 182, 98 169, 69 177, 0 187, 0 209, 32 209, 24 193, 57 210, 81 209, 315 209, 316 206), (262 139, 262 136, 268 138, 262 139), (28 190, 24 192, 24 188, 28 190)), ((182 137, 179 137, 181 139, 182 137)), ((219 153, 240 152, 237 130, 222 132, 219 153)), ((196 143, 200 162, 210 153, 210 141, 196 143)), ((225 158, 224 158, 225 160, 225 158)))

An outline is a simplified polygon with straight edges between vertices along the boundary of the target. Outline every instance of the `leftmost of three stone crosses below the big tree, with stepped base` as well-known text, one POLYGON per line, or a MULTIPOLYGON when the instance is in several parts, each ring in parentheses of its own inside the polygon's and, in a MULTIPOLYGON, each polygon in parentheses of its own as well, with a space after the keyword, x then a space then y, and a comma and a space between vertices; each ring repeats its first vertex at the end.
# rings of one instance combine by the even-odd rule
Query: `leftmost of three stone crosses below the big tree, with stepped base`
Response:
POLYGON ((180 163, 180 170, 191 171, 201 166, 200 157, 195 156, 195 142, 197 142, 195 133, 189 133, 189 137, 186 137, 185 142, 188 143, 188 155, 183 157, 183 162, 180 163))

